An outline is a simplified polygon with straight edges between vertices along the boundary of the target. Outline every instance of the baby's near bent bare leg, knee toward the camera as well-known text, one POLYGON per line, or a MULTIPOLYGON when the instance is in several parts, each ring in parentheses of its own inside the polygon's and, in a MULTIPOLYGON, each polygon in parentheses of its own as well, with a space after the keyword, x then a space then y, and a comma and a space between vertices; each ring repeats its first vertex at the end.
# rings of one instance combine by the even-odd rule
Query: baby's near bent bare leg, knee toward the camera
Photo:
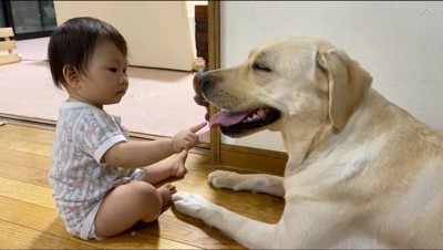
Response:
POLYGON ((137 221, 154 221, 171 205, 175 186, 166 184, 158 189, 144 181, 133 181, 113 189, 100 205, 94 220, 100 237, 119 235, 137 221))

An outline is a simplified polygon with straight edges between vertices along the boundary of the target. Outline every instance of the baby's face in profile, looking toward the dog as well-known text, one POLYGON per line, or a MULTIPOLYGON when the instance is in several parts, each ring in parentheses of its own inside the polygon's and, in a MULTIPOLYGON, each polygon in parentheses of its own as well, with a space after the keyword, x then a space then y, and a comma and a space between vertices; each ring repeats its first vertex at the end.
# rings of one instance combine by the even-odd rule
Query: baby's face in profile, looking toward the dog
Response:
POLYGON ((127 91, 127 58, 113 42, 99 40, 86 69, 81 75, 82 87, 78 94, 100 108, 120 103, 127 91))

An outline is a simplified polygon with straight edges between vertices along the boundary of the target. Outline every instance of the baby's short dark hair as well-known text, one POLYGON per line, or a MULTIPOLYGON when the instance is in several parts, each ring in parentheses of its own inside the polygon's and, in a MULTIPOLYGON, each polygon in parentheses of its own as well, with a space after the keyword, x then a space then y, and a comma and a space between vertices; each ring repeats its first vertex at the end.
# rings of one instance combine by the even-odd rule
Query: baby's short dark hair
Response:
POLYGON ((123 35, 110 23, 95 18, 73 18, 56 27, 51 33, 48 59, 52 80, 56 87, 65 84, 63 67, 71 65, 86 73, 87 63, 99 39, 105 39, 127 56, 127 44, 123 35))

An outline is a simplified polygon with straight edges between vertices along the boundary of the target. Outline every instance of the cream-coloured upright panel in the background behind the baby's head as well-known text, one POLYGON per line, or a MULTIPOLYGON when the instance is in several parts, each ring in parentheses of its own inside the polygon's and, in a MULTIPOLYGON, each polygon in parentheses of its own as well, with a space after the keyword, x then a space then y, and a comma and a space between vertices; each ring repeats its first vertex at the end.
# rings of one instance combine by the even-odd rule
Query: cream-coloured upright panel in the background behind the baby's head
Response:
POLYGON ((185 1, 54 1, 54 8, 58 24, 82 15, 113 24, 127 41, 131 65, 194 67, 194 20, 185 1))

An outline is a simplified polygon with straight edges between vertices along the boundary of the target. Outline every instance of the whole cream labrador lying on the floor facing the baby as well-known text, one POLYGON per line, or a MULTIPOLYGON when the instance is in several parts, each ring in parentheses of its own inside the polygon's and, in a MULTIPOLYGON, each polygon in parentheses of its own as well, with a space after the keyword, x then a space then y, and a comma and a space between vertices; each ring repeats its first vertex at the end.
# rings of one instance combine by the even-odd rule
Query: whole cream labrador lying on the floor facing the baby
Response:
POLYGON ((177 192, 176 210, 246 248, 443 248, 443 134, 371 88, 343 50, 281 38, 198 75, 228 136, 280 131, 285 177, 217 170, 217 188, 285 197, 276 225, 177 192))

